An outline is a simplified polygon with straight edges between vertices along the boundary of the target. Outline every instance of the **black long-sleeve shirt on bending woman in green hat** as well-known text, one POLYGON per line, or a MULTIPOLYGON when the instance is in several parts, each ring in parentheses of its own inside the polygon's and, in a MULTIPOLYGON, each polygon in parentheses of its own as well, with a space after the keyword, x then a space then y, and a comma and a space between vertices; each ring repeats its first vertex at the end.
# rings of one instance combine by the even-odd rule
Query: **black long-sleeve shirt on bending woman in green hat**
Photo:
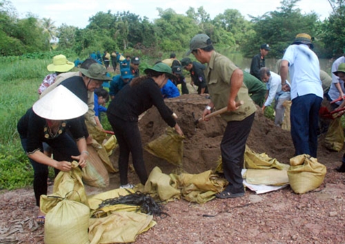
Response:
POLYGON ((137 85, 126 85, 110 102, 107 113, 125 121, 136 122, 139 115, 152 105, 157 107, 161 117, 170 127, 175 126, 172 111, 164 103, 161 91, 152 78, 142 80, 137 85))

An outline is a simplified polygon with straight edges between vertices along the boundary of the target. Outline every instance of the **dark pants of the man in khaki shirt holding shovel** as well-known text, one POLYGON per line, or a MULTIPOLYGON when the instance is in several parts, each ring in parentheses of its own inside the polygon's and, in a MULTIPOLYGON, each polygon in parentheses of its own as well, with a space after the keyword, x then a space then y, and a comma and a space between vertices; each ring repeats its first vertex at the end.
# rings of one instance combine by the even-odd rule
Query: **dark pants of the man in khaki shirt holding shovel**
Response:
POLYGON ((255 113, 242 121, 230 121, 226 126, 221 140, 221 160, 223 163, 224 177, 229 181, 226 191, 231 193, 244 192, 242 168, 244 152, 255 113))

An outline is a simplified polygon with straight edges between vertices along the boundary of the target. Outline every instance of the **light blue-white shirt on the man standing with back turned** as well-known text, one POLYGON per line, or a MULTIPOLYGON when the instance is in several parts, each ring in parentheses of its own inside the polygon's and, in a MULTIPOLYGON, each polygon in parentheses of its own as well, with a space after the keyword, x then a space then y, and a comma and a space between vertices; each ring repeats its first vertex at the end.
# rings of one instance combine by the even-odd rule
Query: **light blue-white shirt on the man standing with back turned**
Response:
POLYGON ((308 45, 290 45, 286 49, 283 60, 287 60, 289 63, 291 99, 308 94, 324 98, 319 58, 308 45))

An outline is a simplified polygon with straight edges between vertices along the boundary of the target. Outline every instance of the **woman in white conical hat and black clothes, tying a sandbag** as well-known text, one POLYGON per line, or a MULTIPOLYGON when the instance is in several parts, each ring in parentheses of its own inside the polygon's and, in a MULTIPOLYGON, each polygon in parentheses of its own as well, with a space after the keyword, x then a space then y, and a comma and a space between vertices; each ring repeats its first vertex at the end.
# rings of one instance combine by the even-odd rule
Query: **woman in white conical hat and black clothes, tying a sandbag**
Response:
MULTIPOLYGON (((41 195, 47 194, 48 166, 69 171, 72 160, 86 166, 88 151, 79 118, 88 111, 88 105, 66 87, 59 86, 34 103, 17 124, 21 144, 34 169, 34 195, 39 206, 41 195), (74 137, 72 138, 69 133, 74 137), (51 148, 54 159, 43 153, 42 143, 51 148), (76 143, 77 142, 77 143, 76 143)), ((39 223, 44 214, 39 211, 39 223)))

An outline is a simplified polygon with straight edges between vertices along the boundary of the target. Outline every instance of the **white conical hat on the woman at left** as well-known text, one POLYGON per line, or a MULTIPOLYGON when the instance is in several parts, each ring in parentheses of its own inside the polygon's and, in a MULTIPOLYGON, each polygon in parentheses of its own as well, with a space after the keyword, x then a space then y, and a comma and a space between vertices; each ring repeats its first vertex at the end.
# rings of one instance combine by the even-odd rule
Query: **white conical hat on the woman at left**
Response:
POLYGON ((59 85, 35 102, 32 110, 47 120, 70 120, 84 115, 88 111, 88 105, 72 91, 59 85))

